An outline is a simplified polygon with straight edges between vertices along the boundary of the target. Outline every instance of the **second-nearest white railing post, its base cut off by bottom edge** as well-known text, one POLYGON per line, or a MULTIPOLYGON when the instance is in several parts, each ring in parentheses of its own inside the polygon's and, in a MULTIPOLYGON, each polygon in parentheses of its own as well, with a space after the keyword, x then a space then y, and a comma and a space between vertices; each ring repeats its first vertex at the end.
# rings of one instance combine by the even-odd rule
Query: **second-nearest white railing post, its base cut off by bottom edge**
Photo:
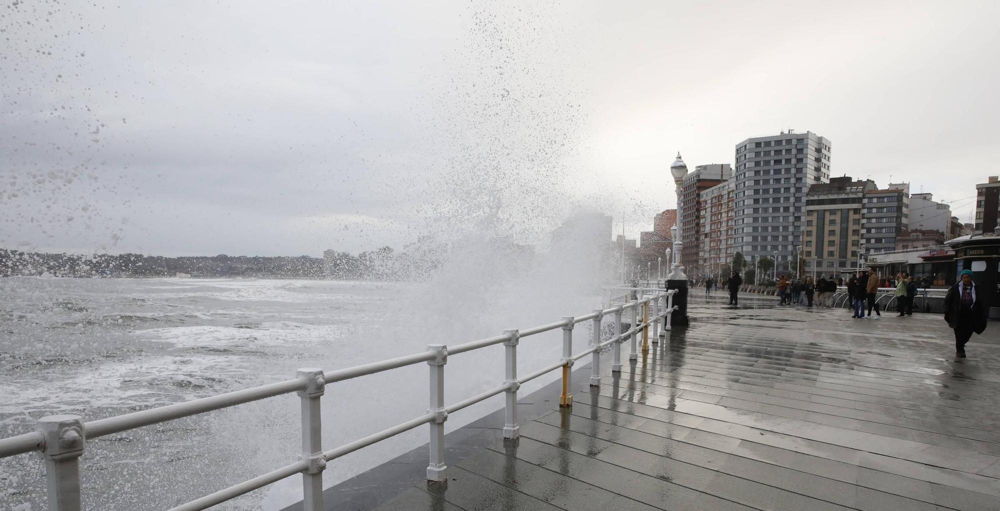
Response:
POLYGON ((306 388, 298 391, 302 403, 302 459, 309 467, 302 471, 302 508, 305 511, 323 511, 323 423, 320 416, 320 397, 325 391, 323 370, 299 368, 296 376, 306 381, 306 388))

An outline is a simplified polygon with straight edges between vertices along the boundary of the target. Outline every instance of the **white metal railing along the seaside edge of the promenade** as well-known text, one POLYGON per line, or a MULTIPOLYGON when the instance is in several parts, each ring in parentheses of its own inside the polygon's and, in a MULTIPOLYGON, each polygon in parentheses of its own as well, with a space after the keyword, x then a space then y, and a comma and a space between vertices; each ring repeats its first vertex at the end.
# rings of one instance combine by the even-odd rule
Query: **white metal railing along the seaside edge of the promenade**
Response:
POLYGON ((427 346, 426 351, 419 353, 330 372, 324 372, 321 369, 303 368, 296 372, 294 379, 105 419, 84 422, 83 417, 79 415, 42 417, 38 419, 35 431, 0 439, 0 458, 39 452, 45 463, 48 508, 52 511, 79 511, 81 509, 79 457, 84 453, 87 440, 150 424, 157 424, 296 392, 302 405, 302 453, 298 461, 219 490, 211 495, 181 504, 172 508, 171 511, 206 509, 299 473, 302 474, 304 509, 306 511, 320 511, 323 509, 323 470, 326 468, 327 462, 423 424, 430 424, 430 459, 427 466, 427 480, 435 482, 445 481, 447 466, 444 459, 444 423, 448 419, 449 414, 458 412, 463 408, 489 399, 497 394, 506 393, 503 436, 504 438, 517 438, 519 436, 517 392, 523 383, 534 380, 561 367, 562 394, 559 397, 559 404, 560 406, 572 406, 573 396, 571 394, 570 369, 576 360, 584 358, 587 355, 592 356, 590 385, 599 386, 601 383, 600 355, 604 348, 609 345, 613 346, 614 355, 611 370, 613 372, 620 372, 621 344, 626 339, 631 340, 629 359, 636 360, 638 356, 636 344, 640 332, 643 334, 642 350, 645 352, 648 349, 647 342, 650 326, 653 327, 653 344, 656 344, 658 338, 664 336, 666 331, 670 330, 670 313, 676 309, 673 305, 675 290, 664 291, 663 289, 656 288, 625 289, 629 289, 630 291, 641 290, 644 293, 652 291, 653 294, 639 300, 631 300, 628 303, 595 309, 590 314, 583 316, 566 316, 560 321, 547 325, 525 330, 505 330, 501 335, 459 344, 451 348, 443 344, 431 344, 427 346), (643 309, 641 322, 639 317, 640 307, 643 309), (652 317, 649 316, 650 308, 652 308, 652 317), (622 314, 627 310, 632 311, 632 323, 627 331, 622 332, 621 318, 622 314), (601 322, 606 314, 614 315, 614 335, 607 341, 601 342, 601 322), (593 322, 593 339, 589 348, 574 354, 573 327, 585 321, 593 322), (663 322, 662 331, 660 329, 661 322, 663 322), (527 376, 519 377, 517 374, 517 345, 520 339, 560 328, 563 330, 562 357, 557 362, 545 368, 527 376), (496 344, 504 345, 505 378, 503 383, 479 395, 446 406, 444 401, 444 367, 448 362, 448 356, 496 344), (421 362, 428 364, 430 373, 430 406, 426 414, 379 431, 378 433, 359 438, 340 447, 326 451, 323 450, 320 398, 324 394, 326 384, 376 374, 421 362))

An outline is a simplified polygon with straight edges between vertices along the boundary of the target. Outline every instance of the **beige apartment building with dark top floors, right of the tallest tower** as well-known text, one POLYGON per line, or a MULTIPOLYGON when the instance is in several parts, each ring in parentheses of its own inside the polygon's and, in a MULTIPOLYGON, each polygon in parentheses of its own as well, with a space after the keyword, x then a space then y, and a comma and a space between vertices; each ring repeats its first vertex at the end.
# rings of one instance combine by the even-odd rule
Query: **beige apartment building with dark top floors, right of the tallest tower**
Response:
POLYGON ((857 264, 865 193, 877 188, 874 181, 850 177, 835 177, 809 188, 802 237, 806 272, 836 276, 842 268, 857 264))

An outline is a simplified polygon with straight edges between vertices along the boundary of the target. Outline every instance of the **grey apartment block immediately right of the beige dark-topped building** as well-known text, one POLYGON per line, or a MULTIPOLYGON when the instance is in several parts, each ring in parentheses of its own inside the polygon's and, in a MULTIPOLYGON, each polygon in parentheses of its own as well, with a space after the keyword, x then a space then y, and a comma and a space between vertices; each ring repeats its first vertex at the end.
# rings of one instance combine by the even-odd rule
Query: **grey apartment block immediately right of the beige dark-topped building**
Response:
POLYGON ((910 185, 890 184, 885 190, 865 192, 861 245, 865 254, 891 252, 896 237, 909 224, 910 185))

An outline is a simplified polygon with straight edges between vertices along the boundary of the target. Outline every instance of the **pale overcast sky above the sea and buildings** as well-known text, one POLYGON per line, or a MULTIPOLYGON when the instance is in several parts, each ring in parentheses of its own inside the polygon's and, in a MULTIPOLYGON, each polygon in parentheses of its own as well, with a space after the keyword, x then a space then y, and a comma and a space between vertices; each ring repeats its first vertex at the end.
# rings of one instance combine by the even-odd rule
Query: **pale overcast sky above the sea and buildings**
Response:
POLYGON ((674 207, 789 128, 969 221, 1000 3, 45 2, 0 8, 0 247, 320 255, 674 207), (427 5, 424 5, 427 4, 427 5))

